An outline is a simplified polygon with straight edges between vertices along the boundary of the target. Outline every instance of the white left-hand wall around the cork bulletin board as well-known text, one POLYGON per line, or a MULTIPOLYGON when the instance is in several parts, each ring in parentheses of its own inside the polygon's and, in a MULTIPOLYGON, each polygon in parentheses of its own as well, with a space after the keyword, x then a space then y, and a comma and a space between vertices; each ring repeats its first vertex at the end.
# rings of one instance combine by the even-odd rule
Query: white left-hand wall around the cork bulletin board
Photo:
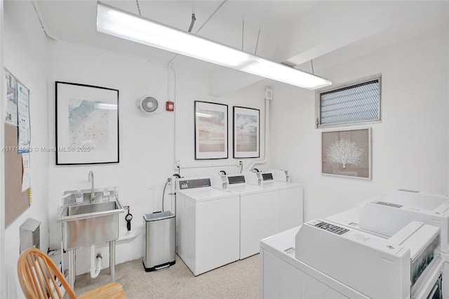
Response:
MULTIPOLYGON (((32 147, 47 146, 48 107, 46 84, 46 36, 29 1, 4 2, 4 66, 18 77, 30 91, 32 147)), ((3 99, 3 97, 2 97, 3 99)), ((2 114, 3 115, 3 114, 2 114)), ((8 175, 6 173, 6 175, 8 175)), ((5 231, 6 298, 19 298, 17 260, 19 257, 19 227, 34 218, 41 224, 41 249, 48 248, 48 154, 31 153, 31 185, 33 202, 5 231)), ((3 221, 3 219, 1 220, 3 221)))

